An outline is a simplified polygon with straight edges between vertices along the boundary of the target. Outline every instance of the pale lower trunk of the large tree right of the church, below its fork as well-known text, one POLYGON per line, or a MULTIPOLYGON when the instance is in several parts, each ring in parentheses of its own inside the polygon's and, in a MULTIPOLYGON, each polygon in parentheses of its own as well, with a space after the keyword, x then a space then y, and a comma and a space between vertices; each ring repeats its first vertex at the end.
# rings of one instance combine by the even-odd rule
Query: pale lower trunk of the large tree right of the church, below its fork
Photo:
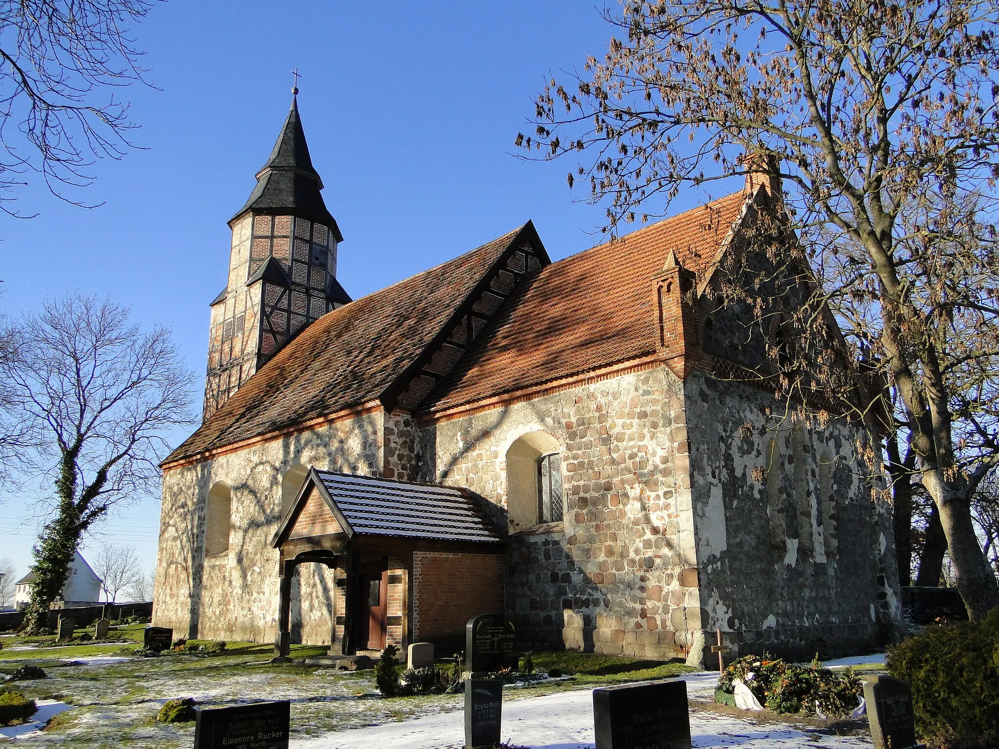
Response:
POLYGON ((947 537, 947 549, 957 573, 957 589, 968 609, 968 618, 984 619, 991 609, 999 606, 999 587, 978 545, 971 521, 971 502, 943 480, 941 471, 926 471, 923 485, 940 510, 940 524, 947 537))

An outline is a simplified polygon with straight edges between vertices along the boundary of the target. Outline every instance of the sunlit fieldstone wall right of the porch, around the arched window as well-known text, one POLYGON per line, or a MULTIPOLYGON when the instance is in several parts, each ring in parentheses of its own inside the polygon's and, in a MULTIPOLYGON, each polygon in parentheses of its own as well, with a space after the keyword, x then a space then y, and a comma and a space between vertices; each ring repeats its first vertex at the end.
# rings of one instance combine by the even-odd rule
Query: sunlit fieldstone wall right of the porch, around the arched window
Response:
POLYGON ((699 610, 682 384, 655 368, 421 430, 422 480, 506 505, 505 455, 531 431, 560 445, 563 522, 513 533, 506 606, 523 647, 672 657, 699 610))

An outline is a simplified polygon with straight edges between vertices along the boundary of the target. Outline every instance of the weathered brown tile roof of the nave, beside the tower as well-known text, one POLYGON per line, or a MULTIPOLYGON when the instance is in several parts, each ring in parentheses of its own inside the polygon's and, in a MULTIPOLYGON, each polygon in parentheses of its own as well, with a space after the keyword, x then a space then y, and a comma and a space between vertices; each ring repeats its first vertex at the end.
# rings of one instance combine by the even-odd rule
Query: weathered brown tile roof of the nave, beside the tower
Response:
POLYGON ((427 348, 521 230, 324 315, 164 463, 377 399, 427 348))

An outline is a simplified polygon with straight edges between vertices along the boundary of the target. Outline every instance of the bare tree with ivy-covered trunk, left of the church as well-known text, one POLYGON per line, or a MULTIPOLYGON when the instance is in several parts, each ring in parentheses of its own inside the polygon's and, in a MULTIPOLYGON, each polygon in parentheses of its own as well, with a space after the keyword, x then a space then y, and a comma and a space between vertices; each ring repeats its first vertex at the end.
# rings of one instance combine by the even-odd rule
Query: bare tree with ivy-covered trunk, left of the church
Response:
POLYGON ((17 356, 0 371, 20 394, 15 416, 35 430, 22 455, 55 482, 52 519, 34 548, 26 626, 49 604, 91 526, 120 502, 155 494, 169 431, 193 423, 192 375, 164 328, 143 333, 111 301, 71 295, 26 315, 17 356))

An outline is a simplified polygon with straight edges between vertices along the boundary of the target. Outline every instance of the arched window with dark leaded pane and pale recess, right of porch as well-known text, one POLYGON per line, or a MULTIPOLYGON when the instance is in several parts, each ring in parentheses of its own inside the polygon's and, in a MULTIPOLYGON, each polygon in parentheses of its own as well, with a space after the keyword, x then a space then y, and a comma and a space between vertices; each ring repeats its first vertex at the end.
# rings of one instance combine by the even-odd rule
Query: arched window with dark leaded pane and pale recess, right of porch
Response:
POLYGON ((506 511, 512 530, 562 519, 560 449, 547 432, 529 431, 506 450, 506 511))

